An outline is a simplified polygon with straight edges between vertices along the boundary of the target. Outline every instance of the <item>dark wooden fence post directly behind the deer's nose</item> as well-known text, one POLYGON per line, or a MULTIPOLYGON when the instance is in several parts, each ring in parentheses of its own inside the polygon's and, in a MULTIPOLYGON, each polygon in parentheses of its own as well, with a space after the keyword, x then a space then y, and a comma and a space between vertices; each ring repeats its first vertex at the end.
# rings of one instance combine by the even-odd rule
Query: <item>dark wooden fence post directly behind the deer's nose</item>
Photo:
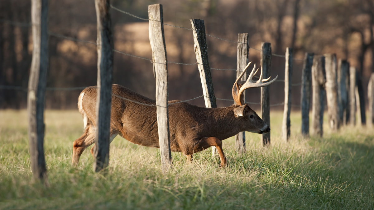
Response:
MULTIPOLYGON (((270 43, 261 43, 261 72, 263 78, 270 77, 270 66, 272 63, 272 47, 270 43)), ((270 127, 270 97, 269 86, 261 87, 261 117, 270 127)), ((263 146, 270 146, 270 132, 261 135, 263 146)))

